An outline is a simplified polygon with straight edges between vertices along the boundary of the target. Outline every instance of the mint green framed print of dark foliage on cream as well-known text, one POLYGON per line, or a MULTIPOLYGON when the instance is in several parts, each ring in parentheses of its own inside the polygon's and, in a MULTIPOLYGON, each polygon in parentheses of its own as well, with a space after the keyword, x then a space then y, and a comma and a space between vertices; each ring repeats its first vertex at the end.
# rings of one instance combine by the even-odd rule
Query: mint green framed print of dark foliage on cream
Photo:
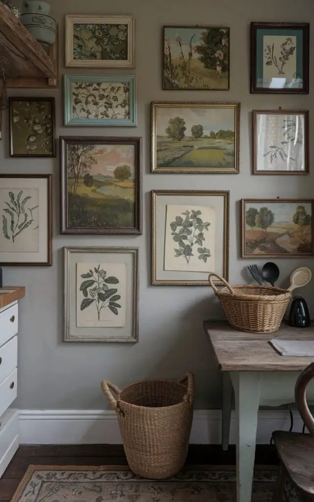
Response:
POLYGON ((65 126, 136 126, 135 75, 64 75, 65 126))

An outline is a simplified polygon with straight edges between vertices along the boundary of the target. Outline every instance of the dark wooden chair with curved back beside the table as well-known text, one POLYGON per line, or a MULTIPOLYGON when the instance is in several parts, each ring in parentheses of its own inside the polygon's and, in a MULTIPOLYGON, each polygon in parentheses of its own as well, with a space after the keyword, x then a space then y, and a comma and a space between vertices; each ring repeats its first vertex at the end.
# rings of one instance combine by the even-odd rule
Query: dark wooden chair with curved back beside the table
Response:
POLYGON ((306 500, 314 500, 314 419, 308 409, 305 391, 314 377, 314 362, 309 364, 295 384, 295 402, 309 434, 275 431, 273 440, 280 458, 273 502, 282 502, 287 475, 306 500))

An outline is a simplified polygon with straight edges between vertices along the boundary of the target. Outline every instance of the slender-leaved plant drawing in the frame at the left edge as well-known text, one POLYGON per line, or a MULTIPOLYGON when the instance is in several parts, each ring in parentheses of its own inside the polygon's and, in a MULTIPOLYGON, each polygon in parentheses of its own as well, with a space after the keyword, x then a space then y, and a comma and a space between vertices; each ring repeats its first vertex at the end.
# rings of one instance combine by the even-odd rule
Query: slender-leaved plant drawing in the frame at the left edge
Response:
MULTIPOLYGON (((3 209, 3 212, 9 214, 10 216, 10 227, 8 226, 8 216, 5 214, 2 215, 2 231, 6 239, 12 239, 15 242, 15 239, 18 235, 20 235, 26 228, 28 228, 34 221, 33 211, 38 207, 26 207, 27 204, 31 200, 31 196, 28 195, 22 201, 23 190, 21 190, 17 197, 15 197, 13 192, 9 192, 10 203, 5 202, 8 207, 3 209)), ((33 230, 38 228, 38 226, 34 227, 33 230)))

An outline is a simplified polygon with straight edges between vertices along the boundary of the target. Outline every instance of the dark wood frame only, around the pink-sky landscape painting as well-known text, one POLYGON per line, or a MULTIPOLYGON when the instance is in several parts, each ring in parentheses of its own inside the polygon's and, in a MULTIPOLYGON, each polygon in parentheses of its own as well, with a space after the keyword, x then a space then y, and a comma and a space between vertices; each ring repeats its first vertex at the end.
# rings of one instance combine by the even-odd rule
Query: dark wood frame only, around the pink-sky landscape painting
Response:
POLYGON ((142 234, 142 138, 100 136, 60 136, 60 226, 62 234, 140 235, 142 234), (95 145, 134 145, 135 148, 135 227, 134 228, 70 228, 67 223, 66 146, 83 143, 95 145))

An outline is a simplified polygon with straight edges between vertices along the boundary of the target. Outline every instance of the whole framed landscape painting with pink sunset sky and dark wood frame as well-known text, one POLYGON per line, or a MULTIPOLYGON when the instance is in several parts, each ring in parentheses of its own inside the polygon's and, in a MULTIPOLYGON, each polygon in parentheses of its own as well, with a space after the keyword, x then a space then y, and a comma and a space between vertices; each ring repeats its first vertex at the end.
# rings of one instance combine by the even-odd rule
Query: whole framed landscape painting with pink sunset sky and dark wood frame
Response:
POLYGON ((61 137, 61 233, 140 234, 141 138, 61 137))

